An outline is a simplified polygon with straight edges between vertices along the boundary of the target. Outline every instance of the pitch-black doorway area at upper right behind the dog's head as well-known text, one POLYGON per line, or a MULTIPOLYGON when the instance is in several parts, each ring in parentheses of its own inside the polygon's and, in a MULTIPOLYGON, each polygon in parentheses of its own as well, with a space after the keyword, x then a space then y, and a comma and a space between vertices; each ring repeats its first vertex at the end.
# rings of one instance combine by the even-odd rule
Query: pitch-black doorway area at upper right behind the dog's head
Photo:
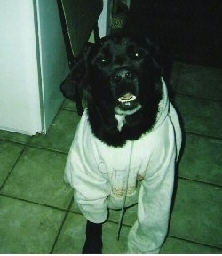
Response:
POLYGON ((127 30, 169 46, 174 59, 222 67, 221 0, 131 0, 127 30))

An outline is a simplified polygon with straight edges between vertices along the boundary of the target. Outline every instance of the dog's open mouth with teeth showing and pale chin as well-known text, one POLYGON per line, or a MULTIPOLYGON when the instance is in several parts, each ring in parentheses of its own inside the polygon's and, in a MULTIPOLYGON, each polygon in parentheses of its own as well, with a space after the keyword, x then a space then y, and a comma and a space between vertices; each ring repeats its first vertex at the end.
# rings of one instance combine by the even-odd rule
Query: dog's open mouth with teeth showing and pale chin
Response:
POLYGON ((141 106, 137 97, 130 92, 123 94, 118 98, 118 105, 115 107, 115 113, 120 115, 131 115, 139 110, 141 106))

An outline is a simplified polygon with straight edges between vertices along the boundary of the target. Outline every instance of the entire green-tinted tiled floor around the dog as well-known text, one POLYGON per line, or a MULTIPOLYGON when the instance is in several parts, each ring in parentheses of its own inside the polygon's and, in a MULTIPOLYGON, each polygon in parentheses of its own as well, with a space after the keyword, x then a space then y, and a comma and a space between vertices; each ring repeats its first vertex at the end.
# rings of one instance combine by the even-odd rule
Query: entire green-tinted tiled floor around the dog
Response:
MULTIPOLYGON (((162 253, 222 253, 222 70, 176 63, 175 102, 186 131, 178 191, 162 253)), ((79 120, 65 101, 47 135, 0 132, 0 253, 80 253, 85 220, 63 182, 79 120)), ((124 253, 136 207, 119 241, 119 212, 104 228, 104 253, 124 253)))

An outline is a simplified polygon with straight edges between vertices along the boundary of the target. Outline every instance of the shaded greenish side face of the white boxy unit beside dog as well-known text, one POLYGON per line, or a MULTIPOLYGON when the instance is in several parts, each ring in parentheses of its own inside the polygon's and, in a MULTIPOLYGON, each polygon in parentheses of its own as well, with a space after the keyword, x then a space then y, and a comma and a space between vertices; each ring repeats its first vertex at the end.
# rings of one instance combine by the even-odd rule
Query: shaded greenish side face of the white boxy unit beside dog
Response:
POLYGON ((59 85, 69 72, 56 0, 37 0, 44 133, 64 100, 59 85))

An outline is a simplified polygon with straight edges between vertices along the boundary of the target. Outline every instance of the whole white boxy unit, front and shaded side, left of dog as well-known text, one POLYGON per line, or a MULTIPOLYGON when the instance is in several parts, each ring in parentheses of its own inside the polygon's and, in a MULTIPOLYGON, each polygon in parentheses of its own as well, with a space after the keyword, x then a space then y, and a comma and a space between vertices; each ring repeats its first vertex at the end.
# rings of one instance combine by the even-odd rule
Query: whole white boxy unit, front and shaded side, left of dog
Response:
POLYGON ((45 133, 69 72, 56 0, 0 0, 0 129, 45 133))

